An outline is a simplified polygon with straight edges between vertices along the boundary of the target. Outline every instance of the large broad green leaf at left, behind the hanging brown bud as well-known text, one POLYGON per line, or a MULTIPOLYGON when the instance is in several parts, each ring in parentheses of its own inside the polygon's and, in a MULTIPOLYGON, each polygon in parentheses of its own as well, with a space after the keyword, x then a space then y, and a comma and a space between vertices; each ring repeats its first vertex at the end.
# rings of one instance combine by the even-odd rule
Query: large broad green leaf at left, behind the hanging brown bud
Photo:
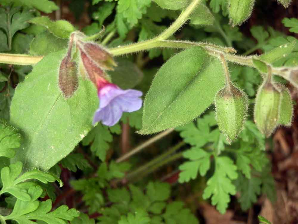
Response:
POLYGON ((65 50, 51 53, 38 62, 15 89, 11 124, 25 140, 13 161, 24 170, 48 170, 66 157, 91 130, 98 107, 96 88, 79 79, 75 94, 66 99, 58 88, 58 68, 65 50))

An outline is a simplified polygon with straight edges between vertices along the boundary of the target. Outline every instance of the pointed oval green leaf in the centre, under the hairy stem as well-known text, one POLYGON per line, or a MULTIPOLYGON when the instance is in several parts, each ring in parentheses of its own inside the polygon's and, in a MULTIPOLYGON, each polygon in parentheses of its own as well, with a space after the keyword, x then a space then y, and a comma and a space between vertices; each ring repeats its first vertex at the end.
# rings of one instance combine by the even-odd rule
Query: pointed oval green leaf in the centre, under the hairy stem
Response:
POLYGON ((152 134, 183 125, 203 113, 224 87, 218 58, 201 47, 184 50, 157 72, 148 91, 140 134, 152 134))

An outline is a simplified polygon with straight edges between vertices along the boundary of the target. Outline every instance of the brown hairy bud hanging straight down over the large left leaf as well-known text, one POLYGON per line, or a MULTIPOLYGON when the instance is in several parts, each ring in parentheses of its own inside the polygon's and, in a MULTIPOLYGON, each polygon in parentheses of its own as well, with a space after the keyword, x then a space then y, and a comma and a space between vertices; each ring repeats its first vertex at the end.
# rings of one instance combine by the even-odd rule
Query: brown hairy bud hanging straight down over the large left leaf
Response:
POLYGON ((71 97, 78 87, 77 63, 71 60, 71 56, 67 54, 59 68, 59 88, 64 97, 71 97))

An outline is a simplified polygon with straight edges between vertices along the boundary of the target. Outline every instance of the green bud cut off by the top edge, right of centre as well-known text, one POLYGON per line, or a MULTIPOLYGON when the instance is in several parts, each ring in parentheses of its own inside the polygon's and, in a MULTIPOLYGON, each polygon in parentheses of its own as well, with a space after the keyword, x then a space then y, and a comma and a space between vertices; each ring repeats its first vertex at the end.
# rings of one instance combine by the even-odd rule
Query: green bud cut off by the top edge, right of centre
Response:
POLYGON ((252 14, 255 0, 229 0, 229 18, 233 25, 241 25, 252 14))

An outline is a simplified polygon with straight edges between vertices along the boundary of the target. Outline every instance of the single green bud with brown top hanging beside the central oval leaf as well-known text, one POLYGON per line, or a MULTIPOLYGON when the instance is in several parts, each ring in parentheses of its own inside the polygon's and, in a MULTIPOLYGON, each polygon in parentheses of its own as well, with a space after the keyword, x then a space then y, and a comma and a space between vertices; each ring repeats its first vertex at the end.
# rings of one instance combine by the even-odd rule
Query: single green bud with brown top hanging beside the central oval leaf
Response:
POLYGON ((215 96, 215 113, 218 128, 229 142, 233 142, 242 131, 248 111, 246 94, 227 83, 215 96))

